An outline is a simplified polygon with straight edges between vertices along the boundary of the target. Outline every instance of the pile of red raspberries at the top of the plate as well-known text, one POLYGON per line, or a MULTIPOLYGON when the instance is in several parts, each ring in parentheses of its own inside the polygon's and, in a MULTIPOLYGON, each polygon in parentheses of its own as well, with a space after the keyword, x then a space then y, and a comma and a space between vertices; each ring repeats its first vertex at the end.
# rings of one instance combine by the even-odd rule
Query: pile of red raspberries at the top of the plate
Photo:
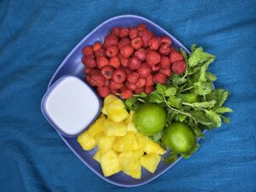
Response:
POLYGON ((150 94, 154 84, 165 84, 172 73, 186 69, 183 55, 172 48, 169 37, 157 37, 146 25, 114 27, 104 39, 83 49, 85 80, 101 97, 119 93, 150 94))

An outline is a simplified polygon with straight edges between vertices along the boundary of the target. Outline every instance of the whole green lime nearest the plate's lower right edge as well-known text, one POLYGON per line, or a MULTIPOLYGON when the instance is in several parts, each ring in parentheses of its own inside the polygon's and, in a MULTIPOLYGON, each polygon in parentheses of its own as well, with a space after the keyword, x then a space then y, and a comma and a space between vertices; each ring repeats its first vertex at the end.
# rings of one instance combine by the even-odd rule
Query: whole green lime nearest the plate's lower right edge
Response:
POLYGON ((194 132, 180 122, 172 123, 165 129, 163 140, 166 147, 177 154, 189 153, 196 143, 194 132))

